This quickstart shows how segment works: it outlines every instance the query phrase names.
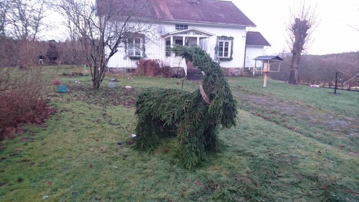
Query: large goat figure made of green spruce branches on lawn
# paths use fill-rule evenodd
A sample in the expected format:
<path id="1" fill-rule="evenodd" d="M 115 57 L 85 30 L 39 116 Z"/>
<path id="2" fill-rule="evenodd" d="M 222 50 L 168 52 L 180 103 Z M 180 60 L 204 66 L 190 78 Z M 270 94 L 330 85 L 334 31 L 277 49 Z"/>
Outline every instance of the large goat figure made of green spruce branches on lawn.
<path id="1" fill-rule="evenodd" d="M 194 92 L 164 88 L 144 90 L 136 102 L 135 146 L 151 151 L 159 137 L 177 136 L 176 155 L 184 167 L 191 169 L 206 159 L 205 150 L 220 150 L 218 126 L 236 125 L 236 101 L 223 69 L 200 47 L 175 46 L 172 51 L 204 72 L 202 86 L 211 104 L 205 102 L 199 88 Z"/>

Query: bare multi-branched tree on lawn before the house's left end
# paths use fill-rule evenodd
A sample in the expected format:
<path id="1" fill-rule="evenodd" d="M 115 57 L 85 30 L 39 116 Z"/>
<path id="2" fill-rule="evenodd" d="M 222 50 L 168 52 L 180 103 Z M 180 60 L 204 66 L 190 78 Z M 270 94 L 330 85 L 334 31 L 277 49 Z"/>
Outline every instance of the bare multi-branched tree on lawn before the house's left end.
<path id="1" fill-rule="evenodd" d="M 109 59 L 126 43 L 133 43 L 130 38 L 141 36 L 145 41 L 153 35 L 151 24 L 134 18 L 148 8 L 144 1 L 102 0 L 93 4 L 91 0 L 62 0 L 57 7 L 70 37 L 81 43 L 82 55 L 91 64 L 93 89 L 101 85 Z"/>

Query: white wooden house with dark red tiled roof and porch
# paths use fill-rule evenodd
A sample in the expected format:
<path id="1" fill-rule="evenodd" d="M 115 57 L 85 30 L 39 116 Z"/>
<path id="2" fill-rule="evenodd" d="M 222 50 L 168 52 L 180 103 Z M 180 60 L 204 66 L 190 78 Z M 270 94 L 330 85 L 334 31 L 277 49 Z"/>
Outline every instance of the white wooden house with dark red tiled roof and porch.
<path id="1" fill-rule="evenodd" d="M 121 7 L 118 9 L 124 16 L 141 7 L 131 6 L 133 0 L 114 1 L 121 2 L 117 6 Z M 214 60 L 221 62 L 221 66 L 228 72 L 246 65 L 246 29 L 255 27 L 255 24 L 232 2 L 137 0 L 136 4 L 146 5 L 145 10 L 133 15 L 131 21 L 151 23 L 156 29 L 155 37 L 151 41 L 143 37 L 130 39 L 125 48 L 119 48 L 110 58 L 110 71 L 135 69 L 136 62 L 141 58 L 159 59 L 163 65 L 183 67 L 186 71 L 190 64 L 168 51 L 174 44 L 201 46 Z M 249 58 L 263 55 L 263 45 L 262 52 L 260 48 L 250 46 L 247 46 Z"/>

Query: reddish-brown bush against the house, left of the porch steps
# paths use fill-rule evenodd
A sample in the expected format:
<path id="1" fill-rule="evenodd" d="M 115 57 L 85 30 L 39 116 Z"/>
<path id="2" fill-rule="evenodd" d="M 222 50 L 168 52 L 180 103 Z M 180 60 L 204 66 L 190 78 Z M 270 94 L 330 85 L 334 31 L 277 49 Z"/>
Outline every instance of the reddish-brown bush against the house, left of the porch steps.
<path id="1" fill-rule="evenodd" d="M 158 59 L 140 59 L 136 62 L 136 76 L 165 76 L 170 75 L 169 67 L 161 67 Z"/>

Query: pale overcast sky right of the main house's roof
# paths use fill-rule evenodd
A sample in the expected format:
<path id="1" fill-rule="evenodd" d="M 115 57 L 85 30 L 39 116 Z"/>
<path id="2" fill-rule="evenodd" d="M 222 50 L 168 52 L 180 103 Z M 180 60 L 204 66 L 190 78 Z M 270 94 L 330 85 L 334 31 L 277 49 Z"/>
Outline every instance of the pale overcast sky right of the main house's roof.
<path id="1" fill-rule="evenodd" d="M 287 48 L 284 22 L 289 8 L 298 0 L 231 0 L 257 25 L 250 31 L 259 31 L 272 45 L 266 54 L 275 54 Z M 314 41 L 308 54 L 329 54 L 359 51 L 358 0 L 307 0 L 316 6 L 320 25 L 313 34 Z"/>

